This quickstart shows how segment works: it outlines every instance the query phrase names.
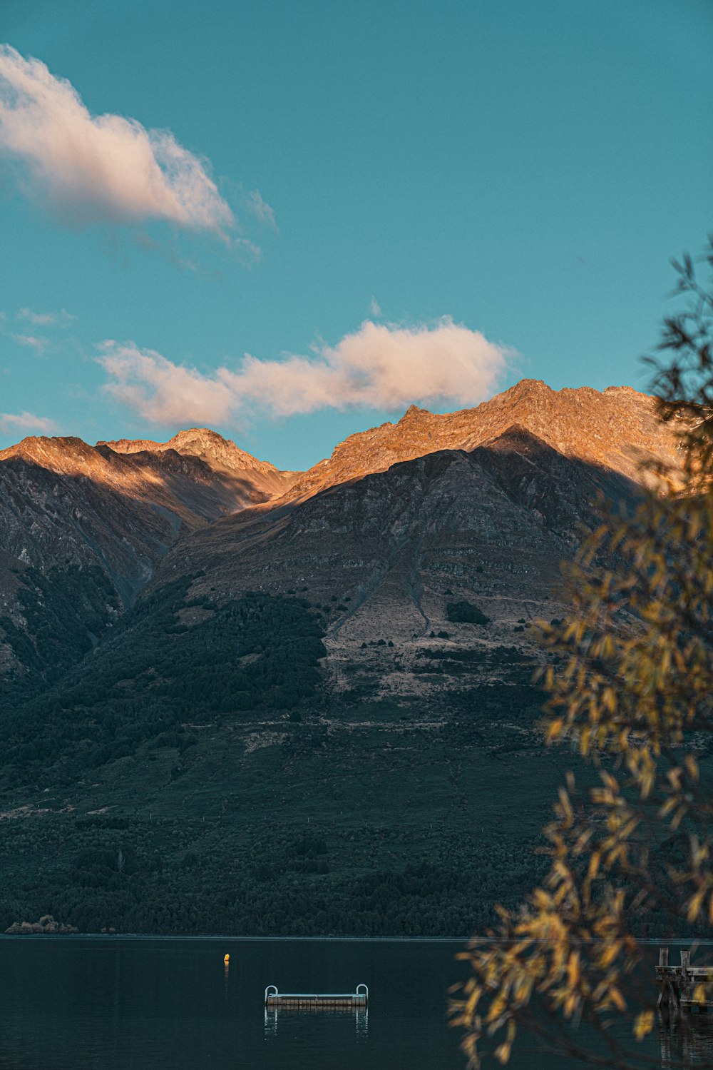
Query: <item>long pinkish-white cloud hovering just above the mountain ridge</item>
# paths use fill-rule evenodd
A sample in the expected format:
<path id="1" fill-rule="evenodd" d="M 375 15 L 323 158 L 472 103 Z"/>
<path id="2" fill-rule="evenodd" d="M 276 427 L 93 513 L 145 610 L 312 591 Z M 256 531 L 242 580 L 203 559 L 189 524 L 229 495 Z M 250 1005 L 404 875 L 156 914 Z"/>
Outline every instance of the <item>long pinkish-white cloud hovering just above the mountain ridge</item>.
<path id="1" fill-rule="evenodd" d="M 220 424 L 262 409 L 291 416 L 320 409 L 468 406 L 489 397 L 509 351 L 449 318 L 403 327 L 366 321 L 312 356 L 243 357 L 236 370 L 204 374 L 133 342 L 106 341 L 99 363 L 106 389 L 156 424 Z"/>

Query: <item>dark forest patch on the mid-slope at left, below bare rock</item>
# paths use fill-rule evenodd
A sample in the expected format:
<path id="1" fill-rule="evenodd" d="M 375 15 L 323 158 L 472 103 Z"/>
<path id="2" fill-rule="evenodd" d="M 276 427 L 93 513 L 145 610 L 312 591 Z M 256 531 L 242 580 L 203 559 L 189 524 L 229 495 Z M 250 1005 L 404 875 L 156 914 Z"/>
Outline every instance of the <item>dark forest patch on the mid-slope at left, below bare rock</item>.
<path id="1" fill-rule="evenodd" d="M 304 601 L 248 593 L 214 606 L 187 598 L 190 582 L 142 599 L 56 686 L 6 687 L 5 782 L 68 783 L 144 740 L 189 744 L 182 725 L 196 718 L 289 710 L 314 694 L 325 648 Z"/>

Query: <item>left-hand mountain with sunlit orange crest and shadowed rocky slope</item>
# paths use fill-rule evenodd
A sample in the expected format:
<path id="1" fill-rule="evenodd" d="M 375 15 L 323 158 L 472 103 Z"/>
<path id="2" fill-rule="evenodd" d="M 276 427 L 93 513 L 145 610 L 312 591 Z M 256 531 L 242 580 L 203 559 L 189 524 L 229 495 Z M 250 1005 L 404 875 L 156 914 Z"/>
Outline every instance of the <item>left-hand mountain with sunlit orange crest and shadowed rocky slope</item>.
<path id="1" fill-rule="evenodd" d="M 29 438 L 0 452 L 0 672 L 86 653 L 180 533 L 289 485 L 214 432 L 128 445 Z M 76 643 L 63 648 L 66 628 Z M 41 635 L 34 658 L 22 636 Z"/>

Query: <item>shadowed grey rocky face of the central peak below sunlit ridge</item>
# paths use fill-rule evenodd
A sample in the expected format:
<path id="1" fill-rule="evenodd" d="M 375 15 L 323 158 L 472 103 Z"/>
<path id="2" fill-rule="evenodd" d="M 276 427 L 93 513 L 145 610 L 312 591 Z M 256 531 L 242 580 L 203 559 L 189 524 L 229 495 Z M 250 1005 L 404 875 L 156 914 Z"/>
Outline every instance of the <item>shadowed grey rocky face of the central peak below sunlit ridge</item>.
<path id="1" fill-rule="evenodd" d="M 483 667 L 499 647 L 527 647 L 521 621 L 549 610 L 560 562 L 596 522 L 592 500 L 637 490 L 510 427 L 469 453 L 428 454 L 301 504 L 223 518 L 182 539 L 150 590 L 189 574 L 191 596 L 216 605 L 247 591 L 296 594 L 323 621 L 338 691 L 422 693 L 419 662 L 434 645 L 444 670 L 464 645 Z M 458 666 L 454 676 L 449 686 L 461 686 Z"/>

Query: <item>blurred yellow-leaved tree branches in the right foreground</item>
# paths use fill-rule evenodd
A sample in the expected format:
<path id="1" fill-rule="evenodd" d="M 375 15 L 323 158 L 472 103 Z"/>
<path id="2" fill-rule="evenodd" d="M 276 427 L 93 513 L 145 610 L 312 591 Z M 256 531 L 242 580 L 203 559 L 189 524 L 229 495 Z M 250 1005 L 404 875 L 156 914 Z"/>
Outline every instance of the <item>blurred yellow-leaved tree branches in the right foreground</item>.
<path id="1" fill-rule="evenodd" d="M 713 241 L 704 259 L 713 271 Z M 607 518 L 569 570 L 572 612 L 543 628 L 557 655 L 545 677 L 549 739 L 614 762 L 586 795 L 573 778 L 560 790 L 546 880 L 470 945 L 455 1011 L 474 1066 L 483 1054 L 507 1063 L 518 1027 L 584 1060 L 648 1061 L 610 1031 L 617 1015 L 636 1040 L 653 1028 L 653 979 L 642 993 L 634 983 L 635 933 L 648 915 L 668 919 L 662 937 L 713 924 L 713 802 L 701 777 L 713 730 L 713 285 L 699 284 L 689 258 L 676 268 L 688 302 L 665 321 L 654 389 L 681 431 L 683 482 L 660 472 L 632 516 Z M 599 1034 L 596 1054 L 563 1028 L 580 1022 Z"/>

